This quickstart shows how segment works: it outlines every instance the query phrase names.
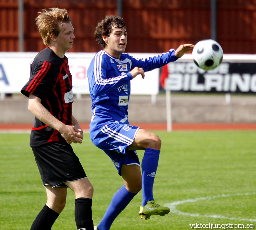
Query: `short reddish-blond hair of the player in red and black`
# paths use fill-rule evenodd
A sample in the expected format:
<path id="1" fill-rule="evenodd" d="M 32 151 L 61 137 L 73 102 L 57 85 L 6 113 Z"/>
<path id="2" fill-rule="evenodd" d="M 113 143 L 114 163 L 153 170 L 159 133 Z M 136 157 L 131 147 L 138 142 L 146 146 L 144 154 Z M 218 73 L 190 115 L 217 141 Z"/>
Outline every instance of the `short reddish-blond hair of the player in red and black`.
<path id="1" fill-rule="evenodd" d="M 42 9 L 42 12 L 38 13 L 39 15 L 35 18 L 35 24 L 46 46 L 50 45 L 51 34 L 57 37 L 60 33 L 61 25 L 72 22 L 66 9 Z"/>

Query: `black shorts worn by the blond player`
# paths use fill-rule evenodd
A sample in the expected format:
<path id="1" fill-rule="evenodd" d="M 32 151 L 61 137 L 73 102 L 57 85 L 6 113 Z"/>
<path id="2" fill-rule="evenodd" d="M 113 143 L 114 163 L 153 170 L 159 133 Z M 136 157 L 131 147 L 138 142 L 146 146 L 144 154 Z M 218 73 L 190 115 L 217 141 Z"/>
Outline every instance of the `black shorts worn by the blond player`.
<path id="1" fill-rule="evenodd" d="M 68 187 L 65 182 L 86 177 L 71 145 L 53 142 L 32 147 L 32 150 L 44 185 L 50 185 L 52 188 Z"/>

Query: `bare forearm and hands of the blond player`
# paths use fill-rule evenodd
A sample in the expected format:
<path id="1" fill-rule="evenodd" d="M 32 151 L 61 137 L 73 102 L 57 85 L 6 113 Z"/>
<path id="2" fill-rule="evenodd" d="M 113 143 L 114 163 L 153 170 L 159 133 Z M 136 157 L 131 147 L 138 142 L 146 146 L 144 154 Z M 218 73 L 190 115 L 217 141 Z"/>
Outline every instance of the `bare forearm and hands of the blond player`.
<path id="1" fill-rule="evenodd" d="M 32 94 L 29 95 L 29 111 L 32 112 L 39 120 L 59 131 L 62 137 L 70 144 L 82 143 L 83 135 L 80 134 L 82 129 L 75 126 L 68 126 L 55 118 L 46 108 L 41 104 L 41 99 Z"/>

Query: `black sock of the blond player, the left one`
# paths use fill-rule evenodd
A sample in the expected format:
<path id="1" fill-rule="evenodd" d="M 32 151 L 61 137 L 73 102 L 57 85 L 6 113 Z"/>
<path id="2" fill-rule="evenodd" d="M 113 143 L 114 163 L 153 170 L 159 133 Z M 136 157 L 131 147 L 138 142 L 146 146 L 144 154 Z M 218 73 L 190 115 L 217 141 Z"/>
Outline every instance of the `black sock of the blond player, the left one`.
<path id="1" fill-rule="evenodd" d="M 35 218 L 30 230 L 51 230 L 53 223 L 60 214 L 44 206 Z"/>

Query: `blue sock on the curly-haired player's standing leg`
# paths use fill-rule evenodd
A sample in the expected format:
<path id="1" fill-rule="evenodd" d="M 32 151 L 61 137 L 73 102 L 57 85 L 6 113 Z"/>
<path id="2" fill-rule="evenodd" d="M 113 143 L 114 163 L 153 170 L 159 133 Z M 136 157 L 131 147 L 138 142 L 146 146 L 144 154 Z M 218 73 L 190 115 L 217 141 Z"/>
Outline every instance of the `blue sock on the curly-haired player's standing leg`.
<path id="1" fill-rule="evenodd" d="M 106 210 L 105 215 L 97 225 L 98 230 L 109 230 L 114 219 L 124 210 L 136 194 L 137 193 L 127 191 L 123 185 L 113 196 L 112 202 Z"/>

